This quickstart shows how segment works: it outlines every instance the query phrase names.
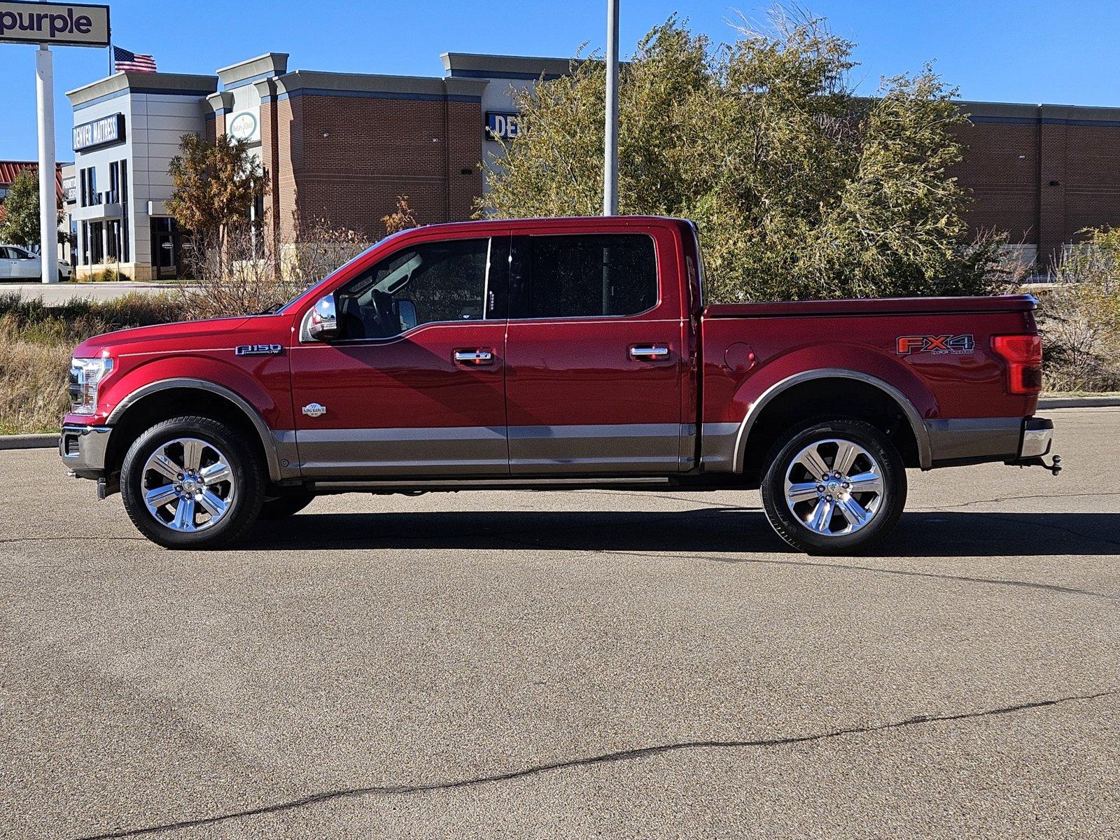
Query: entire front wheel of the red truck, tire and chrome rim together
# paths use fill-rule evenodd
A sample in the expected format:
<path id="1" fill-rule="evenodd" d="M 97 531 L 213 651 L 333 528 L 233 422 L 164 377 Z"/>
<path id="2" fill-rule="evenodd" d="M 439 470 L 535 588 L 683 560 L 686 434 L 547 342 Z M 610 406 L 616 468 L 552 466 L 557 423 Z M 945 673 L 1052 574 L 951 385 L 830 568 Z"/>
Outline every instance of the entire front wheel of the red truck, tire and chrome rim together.
<path id="1" fill-rule="evenodd" d="M 217 549 L 252 526 L 264 474 L 235 429 L 207 417 L 177 417 L 143 432 L 121 467 L 132 524 L 170 549 Z"/>

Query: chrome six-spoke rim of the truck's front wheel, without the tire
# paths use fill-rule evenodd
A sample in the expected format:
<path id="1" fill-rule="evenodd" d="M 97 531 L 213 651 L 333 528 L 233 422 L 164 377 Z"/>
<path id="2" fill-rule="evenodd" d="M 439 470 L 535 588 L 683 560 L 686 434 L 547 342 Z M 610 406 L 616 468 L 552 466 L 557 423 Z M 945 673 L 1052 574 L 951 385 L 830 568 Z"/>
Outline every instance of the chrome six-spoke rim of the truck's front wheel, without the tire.
<path id="1" fill-rule="evenodd" d="M 236 487 L 230 461 L 213 444 L 176 438 L 152 452 L 140 479 L 144 505 L 172 531 L 204 531 L 233 505 Z"/>

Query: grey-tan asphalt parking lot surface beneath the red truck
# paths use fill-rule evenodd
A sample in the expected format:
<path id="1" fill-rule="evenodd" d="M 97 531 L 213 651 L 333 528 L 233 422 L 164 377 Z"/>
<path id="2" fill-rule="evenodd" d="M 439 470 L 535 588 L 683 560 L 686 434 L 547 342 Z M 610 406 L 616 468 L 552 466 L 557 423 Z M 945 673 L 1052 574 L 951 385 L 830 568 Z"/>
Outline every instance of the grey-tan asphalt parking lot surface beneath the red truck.
<path id="1" fill-rule="evenodd" d="M 871 557 L 756 493 L 340 496 L 142 540 L 0 451 L 0 836 L 1117 837 L 1120 409 L 911 474 Z"/>

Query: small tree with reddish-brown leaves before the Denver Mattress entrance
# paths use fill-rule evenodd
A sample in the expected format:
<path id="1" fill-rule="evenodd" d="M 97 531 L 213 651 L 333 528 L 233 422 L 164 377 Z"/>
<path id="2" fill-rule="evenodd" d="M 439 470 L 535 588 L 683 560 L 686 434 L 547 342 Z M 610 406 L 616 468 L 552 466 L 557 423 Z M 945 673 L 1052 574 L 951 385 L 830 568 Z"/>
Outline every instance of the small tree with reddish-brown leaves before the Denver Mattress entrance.
<path id="1" fill-rule="evenodd" d="M 264 170 L 248 143 L 228 134 L 214 142 L 184 134 L 167 171 L 174 187 L 168 212 L 181 227 L 216 236 L 220 243 L 232 226 L 249 223 L 253 202 L 267 188 Z"/>

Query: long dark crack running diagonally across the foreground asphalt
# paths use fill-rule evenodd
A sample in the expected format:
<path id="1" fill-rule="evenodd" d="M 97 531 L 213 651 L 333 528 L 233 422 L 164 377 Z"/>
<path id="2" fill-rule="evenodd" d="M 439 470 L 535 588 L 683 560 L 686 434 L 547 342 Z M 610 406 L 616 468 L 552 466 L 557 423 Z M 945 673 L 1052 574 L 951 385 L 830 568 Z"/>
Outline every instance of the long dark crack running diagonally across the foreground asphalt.
<path id="1" fill-rule="evenodd" d="M 102 833 L 102 834 L 87 834 L 82 837 L 80 840 L 112 840 L 113 838 L 140 837 L 142 834 L 155 834 L 168 831 L 179 831 L 183 829 L 198 828 L 200 825 L 213 825 L 214 823 L 226 822 L 230 820 L 237 820 L 246 816 L 259 816 L 262 814 L 277 813 L 281 811 L 292 811 L 296 809 L 307 808 L 308 805 L 316 805 L 321 802 L 329 802 L 333 800 L 356 799 L 360 796 L 373 796 L 373 795 L 377 796 L 412 795 L 412 794 L 431 793 L 433 791 L 455 791 L 455 790 L 463 790 L 466 787 L 478 787 L 482 785 L 495 784 L 498 782 L 512 782 L 520 778 L 535 776 L 542 773 L 552 773 L 557 771 L 566 771 L 578 767 L 588 767 L 599 764 L 612 764 L 615 762 L 632 762 L 641 758 L 650 758 L 653 756 L 665 755 L 668 753 L 678 753 L 683 750 L 768 748 L 768 747 L 792 746 L 797 744 L 811 744 L 813 741 L 825 740 L 829 738 L 840 738 L 848 735 L 865 735 L 865 734 L 880 732 L 888 729 L 904 729 L 914 726 L 925 726 L 927 724 L 952 722 L 956 720 L 973 720 L 978 718 L 987 718 L 998 715 L 1012 715 L 1015 712 L 1027 711 L 1029 709 L 1043 709 L 1047 707 L 1058 706 L 1061 703 L 1075 702 L 1079 700 L 1080 701 L 1099 700 L 1101 698 L 1116 697 L 1118 694 L 1120 694 L 1120 688 L 1109 689 L 1105 691 L 1096 691 L 1090 694 L 1072 694 L 1067 697 L 1051 698 L 1048 700 L 1032 700 L 996 709 L 981 709 L 979 711 L 965 711 L 965 712 L 954 712 L 954 713 L 943 713 L 943 715 L 916 715 L 914 717 L 903 718 L 902 720 L 893 720 L 886 724 L 875 724 L 871 726 L 860 726 L 860 727 L 844 727 L 840 729 L 828 729 L 820 732 L 810 732 L 808 735 L 791 735 L 782 738 L 759 738 L 756 740 L 692 740 L 692 741 L 674 741 L 670 744 L 655 744 L 648 747 L 634 747 L 632 749 L 623 749 L 613 753 L 603 753 L 594 756 L 568 758 L 564 760 L 549 762 L 545 764 L 534 764 L 532 766 L 523 767 L 521 769 L 508 771 L 506 773 L 494 773 L 485 776 L 474 776 L 472 778 L 447 780 L 442 782 L 428 782 L 424 784 L 413 784 L 413 785 L 374 785 L 368 787 L 348 787 L 336 791 L 323 791 L 320 793 L 312 793 L 307 796 L 300 796 L 299 799 L 289 800 L 287 802 L 277 802 L 271 805 L 261 805 L 260 808 L 245 809 L 243 811 L 230 811 L 223 814 L 199 816 L 190 820 L 180 820 L 178 822 L 168 822 L 158 825 L 146 825 L 136 829 L 118 829 L 115 831 L 110 831 L 108 833 Z"/>

